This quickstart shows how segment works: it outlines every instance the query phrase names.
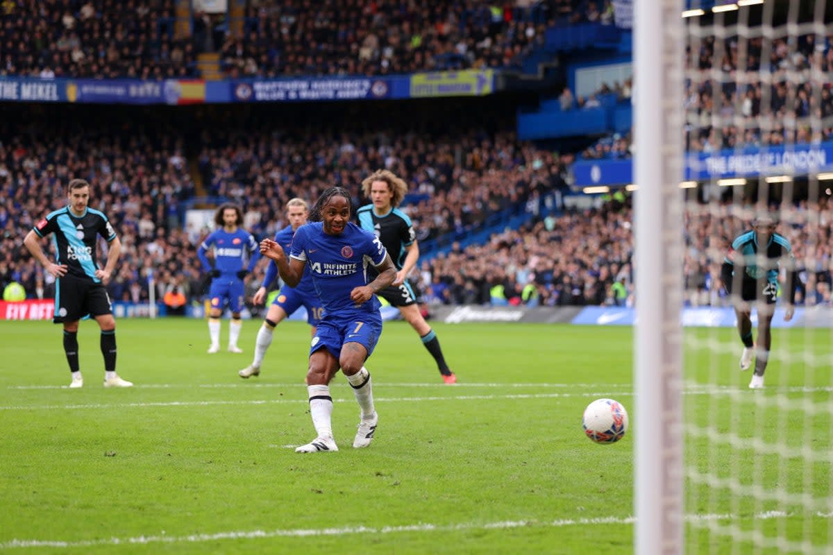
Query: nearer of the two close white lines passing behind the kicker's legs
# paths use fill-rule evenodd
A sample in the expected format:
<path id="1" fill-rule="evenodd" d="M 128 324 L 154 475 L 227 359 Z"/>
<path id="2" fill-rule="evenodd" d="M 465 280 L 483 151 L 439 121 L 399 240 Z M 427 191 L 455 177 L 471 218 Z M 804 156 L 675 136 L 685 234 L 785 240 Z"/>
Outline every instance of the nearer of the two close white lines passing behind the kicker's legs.
<path id="1" fill-rule="evenodd" d="M 779 393 L 830 393 L 833 387 L 808 388 L 803 386 L 777 389 L 771 391 Z M 686 395 L 718 395 L 718 394 L 740 394 L 748 392 L 746 388 L 729 387 L 696 387 L 684 392 Z M 616 398 L 632 397 L 633 391 L 582 391 L 577 393 L 536 393 L 536 394 L 503 394 L 503 395 L 443 395 L 429 397 L 377 397 L 377 403 L 401 403 L 420 401 L 483 401 L 495 399 L 558 399 L 558 398 Z M 353 399 L 333 399 L 333 403 L 352 403 Z M 307 399 L 242 399 L 237 401 L 157 401 L 147 403 L 91 403 L 91 404 L 42 404 L 42 405 L 0 405 L 2 410 L 74 410 L 74 409 L 131 409 L 147 407 L 207 407 L 212 405 L 246 405 L 246 404 L 295 404 L 307 403 Z"/>

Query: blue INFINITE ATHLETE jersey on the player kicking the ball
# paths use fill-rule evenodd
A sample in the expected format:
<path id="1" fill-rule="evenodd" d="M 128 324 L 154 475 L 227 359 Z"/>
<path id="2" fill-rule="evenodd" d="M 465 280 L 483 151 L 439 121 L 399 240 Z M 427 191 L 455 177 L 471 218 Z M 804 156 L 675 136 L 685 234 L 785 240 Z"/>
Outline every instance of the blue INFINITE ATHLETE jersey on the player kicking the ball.
<path id="1" fill-rule="evenodd" d="M 320 221 L 302 225 L 295 232 L 289 255 L 307 264 L 325 320 L 337 319 L 343 312 L 379 310 L 376 295 L 362 305 L 350 298 L 354 288 L 369 283 L 368 265 L 381 265 L 387 256 L 382 242 L 369 231 L 348 222 L 341 235 L 327 235 Z"/>

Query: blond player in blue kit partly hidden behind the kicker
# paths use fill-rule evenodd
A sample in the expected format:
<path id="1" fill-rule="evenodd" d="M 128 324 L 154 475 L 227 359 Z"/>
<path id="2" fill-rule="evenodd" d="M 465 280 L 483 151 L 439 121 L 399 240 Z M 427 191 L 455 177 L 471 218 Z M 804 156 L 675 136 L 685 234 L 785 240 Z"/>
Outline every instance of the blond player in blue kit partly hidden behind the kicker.
<path id="1" fill-rule="evenodd" d="M 309 210 L 307 209 L 306 201 L 294 198 L 287 202 L 287 220 L 289 221 L 289 225 L 275 234 L 275 242 L 281 245 L 285 252 L 289 252 L 290 246 L 292 245 L 292 235 L 295 235 L 295 231 L 307 223 L 308 217 Z M 257 293 L 255 293 L 252 299 L 255 305 L 260 305 L 266 299 L 269 285 L 272 285 L 272 281 L 276 277 L 277 265 L 272 260 L 267 266 L 266 276 L 263 278 L 263 285 L 257 290 Z M 312 285 L 312 280 L 309 277 L 308 268 L 304 269 L 301 283 L 297 287 L 283 285 L 275 300 L 272 301 L 272 305 L 267 311 L 266 319 L 263 320 L 263 325 L 257 332 L 252 364 L 249 364 L 237 373 L 241 378 L 260 375 L 263 356 L 266 354 L 267 349 L 269 349 L 269 345 L 272 344 L 272 332 L 275 330 L 275 326 L 280 324 L 287 316 L 292 315 L 301 306 L 307 309 L 307 322 L 312 326 L 312 335 L 314 336 L 318 320 L 321 320 L 323 309 L 321 301 L 318 300 L 315 286 Z"/>

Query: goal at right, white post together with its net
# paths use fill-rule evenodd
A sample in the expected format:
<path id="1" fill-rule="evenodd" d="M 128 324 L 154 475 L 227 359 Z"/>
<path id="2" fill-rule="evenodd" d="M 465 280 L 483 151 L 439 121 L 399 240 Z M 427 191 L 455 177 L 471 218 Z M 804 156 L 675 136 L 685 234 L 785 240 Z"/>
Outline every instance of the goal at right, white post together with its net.
<path id="1" fill-rule="evenodd" d="M 831 22 L 636 2 L 637 553 L 833 553 Z"/>

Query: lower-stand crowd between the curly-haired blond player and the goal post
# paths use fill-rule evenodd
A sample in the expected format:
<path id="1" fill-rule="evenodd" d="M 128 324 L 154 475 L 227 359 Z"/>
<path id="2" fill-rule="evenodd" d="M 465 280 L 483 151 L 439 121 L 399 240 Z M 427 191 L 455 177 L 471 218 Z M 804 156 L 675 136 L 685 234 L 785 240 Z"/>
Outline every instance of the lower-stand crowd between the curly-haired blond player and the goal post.
<path id="1" fill-rule="evenodd" d="M 423 261 L 416 283 L 429 305 L 625 305 L 633 289 L 631 216 L 626 199 L 533 218 L 484 245 L 455 245 Z M 625 298 L 614 295 L 617 282 Z"/>

